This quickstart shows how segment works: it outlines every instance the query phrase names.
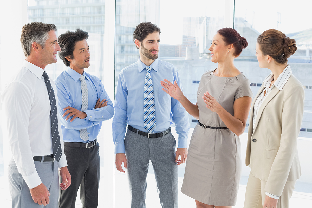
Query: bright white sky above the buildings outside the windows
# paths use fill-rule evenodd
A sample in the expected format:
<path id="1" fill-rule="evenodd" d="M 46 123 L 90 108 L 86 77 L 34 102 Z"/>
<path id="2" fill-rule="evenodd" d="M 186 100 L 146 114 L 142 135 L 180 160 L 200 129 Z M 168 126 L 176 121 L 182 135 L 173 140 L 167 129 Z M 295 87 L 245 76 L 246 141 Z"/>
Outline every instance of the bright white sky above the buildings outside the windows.
<path id="1" fill-rule="evenodd" d="M 159 1 L 161 43 L 176 45 L 182 44 L 183 17 L 222 17 L 230 0 Z M 28 3 L 35 5 L 33 0 Z M 310 0 L 235 0 L 235 17 L 243 17 L 259 32 L 275 28 L 287 34 L 312 27 L 311 8 Z"/>

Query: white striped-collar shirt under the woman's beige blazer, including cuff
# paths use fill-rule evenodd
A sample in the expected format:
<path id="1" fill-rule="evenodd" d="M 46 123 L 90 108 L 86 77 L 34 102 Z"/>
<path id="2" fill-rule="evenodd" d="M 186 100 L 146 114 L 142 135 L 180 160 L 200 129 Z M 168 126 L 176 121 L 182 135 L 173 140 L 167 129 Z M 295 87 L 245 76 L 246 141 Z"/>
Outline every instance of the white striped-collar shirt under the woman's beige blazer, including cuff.
<path id="1" fill-rule="evenodd" d="M 287 82 L 288 78 L 292 75 L 292 71 L 290 69 L 290 66 L 287 65 L 286 68 L 282 71 L 282 73 L 280 74 L 280 76 L 275 80 L 274 84 L 270 87 L 272 80 L 274 79 L 274 75 L 273 73 L 271 73 L 269 76 L 267 76 L 264 81 L 263 81 L 263 85 L 264 85 L 264 89 L 262 90 L 262 92 L 260 93 L 260 95 L 257 97 L 256 101 L 255 101 L 255 105 L 254 105 L 254 113 L 253 113 L 253 128 L 255 128 L 255 124 L 256 124 L 256 119 L 257 119 L 257 115 L 259 113 L 259 109 L 261 107 L 261 104 L 263 103 L 263 101 L 266 99 L 266 97 L 268 96 L 268 94 L 270 94 L 270 92 L 272 91 L 272 89 L 274 87 L 276 87 L 279 90 L 282 90 L 283 87 L 285 86 L 285 83 Z M 266 93 L 265 93 L 266 92 Z M 266 192 L 267 196 L 270 196 L 274 199 L 279 199 L 280 196 L 275 196 L 272 195 L 268 192 Z"/>

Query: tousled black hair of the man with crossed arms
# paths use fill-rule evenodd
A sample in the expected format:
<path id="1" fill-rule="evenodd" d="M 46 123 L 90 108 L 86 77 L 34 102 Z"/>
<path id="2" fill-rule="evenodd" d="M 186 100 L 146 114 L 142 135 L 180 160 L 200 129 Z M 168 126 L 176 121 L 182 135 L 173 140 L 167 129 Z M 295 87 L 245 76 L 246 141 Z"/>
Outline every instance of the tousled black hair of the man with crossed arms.
<path id="1" fill-rule="evenodd" d="M 66 56 L 71 56 L 71 59 L 74 59 L 73 52 L 76 46 L 76 42 L 82 41 L 84 39 L 87 40 L 88 37 L 88 32 L 83 31 L 79 28 L 75 32 L 67 31 L 59 36 L 58 43 L 61 47 L 61 51 L 59 51 L 59 56 L 66 66 L 69 66 L 71 64 L 71 62 L 65 58 Z"/>

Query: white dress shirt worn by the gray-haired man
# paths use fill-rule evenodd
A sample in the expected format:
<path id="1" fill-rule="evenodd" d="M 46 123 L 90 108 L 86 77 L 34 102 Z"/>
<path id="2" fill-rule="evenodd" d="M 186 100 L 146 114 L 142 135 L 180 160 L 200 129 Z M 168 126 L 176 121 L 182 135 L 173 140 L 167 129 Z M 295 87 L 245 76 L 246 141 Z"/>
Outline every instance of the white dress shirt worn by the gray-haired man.
<path id="1" fill-rule="evenodd" d="M 7 116 L 8 140 L 13 159 L 29 188 L 41 184 L 32 157 L 53 154 L 50 99 L 42 76 L 43 71 L 24 60 L 22 69 L 8 81 L 2 92 L 3 111 Z M 52 79 L 50 82 L 58 103 L 55 84 Z M 62 148 L 58 167 L 61 168 L 67 166 L 67 162 L 60 118 L 58 129 Z"/>

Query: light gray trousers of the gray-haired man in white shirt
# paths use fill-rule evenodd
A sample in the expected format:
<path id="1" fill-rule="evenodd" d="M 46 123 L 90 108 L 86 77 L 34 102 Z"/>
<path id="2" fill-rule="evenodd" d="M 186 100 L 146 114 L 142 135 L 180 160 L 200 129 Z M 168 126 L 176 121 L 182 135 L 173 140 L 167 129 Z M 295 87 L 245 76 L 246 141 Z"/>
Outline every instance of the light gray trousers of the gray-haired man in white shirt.
<path id="1" fill-rule="evenodd" d="M 22 175 L 17 171 L 17 166 L 12 158 L 7 168 L 9 189 L 12 196 L 12 208 L 57 208 L 60 187 L 57 162 L 41 163 L 34 161 L 34 163 L 41 182 L 51 194 L 49 196 L 50 203 L 43 206 L 33 201 L 29 188 Z"/>

